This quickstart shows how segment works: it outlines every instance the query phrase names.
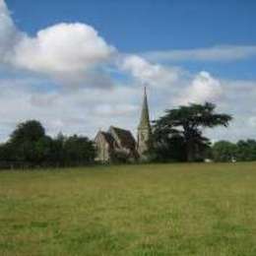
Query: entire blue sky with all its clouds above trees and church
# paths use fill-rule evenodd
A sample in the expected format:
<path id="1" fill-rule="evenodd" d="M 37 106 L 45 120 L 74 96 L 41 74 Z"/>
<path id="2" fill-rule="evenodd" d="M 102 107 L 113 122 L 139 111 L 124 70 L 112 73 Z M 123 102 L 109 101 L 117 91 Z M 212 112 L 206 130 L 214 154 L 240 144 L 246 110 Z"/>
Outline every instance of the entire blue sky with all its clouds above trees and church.
<path id="1" fill-rule="evenodd" d="M 233 116 L 213 140 L 256 138 L 253 0 L 0 0 L 0 141 L 19 122 L 94 138 L 136 135 L 143 88 L 151 119 L 180 104 Z"/>

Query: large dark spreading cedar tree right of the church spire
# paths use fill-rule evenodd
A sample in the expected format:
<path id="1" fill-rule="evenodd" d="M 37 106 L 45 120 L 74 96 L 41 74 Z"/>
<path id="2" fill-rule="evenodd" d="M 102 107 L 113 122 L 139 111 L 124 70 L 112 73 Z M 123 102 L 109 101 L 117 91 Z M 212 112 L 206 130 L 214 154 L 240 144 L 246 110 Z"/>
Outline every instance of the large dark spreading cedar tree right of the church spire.
<path id="1" fill-rule="evenodd" d="M 228 114 L 216 113 L 215 108 L 215 104 L 206 102 L 166 110 L 165 115 L 155 121 L 157 143 L 164 143 L 166 138 L 181 137 L 185 145 L 186 160 L 202 158 L 202 153 L 210 144 L 203 136 L 203 129 L 219 125 L 226 127 L 232 119 Z"/>

